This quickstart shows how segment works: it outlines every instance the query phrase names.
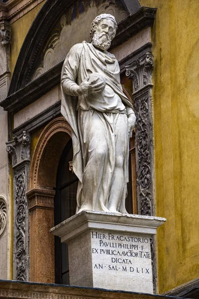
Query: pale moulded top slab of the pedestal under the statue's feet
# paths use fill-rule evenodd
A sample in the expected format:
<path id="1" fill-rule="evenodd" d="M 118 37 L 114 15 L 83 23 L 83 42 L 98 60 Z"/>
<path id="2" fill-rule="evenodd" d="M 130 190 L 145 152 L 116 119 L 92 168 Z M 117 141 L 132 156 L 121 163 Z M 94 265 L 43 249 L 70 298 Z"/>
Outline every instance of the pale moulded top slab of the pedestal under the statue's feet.
<path id="1" fill-rule="evenodd" d="M 60 237 L 61 242 L 71 240 L 86 230 L 97 227 L 106 231 L 155 235 L 157 228 L 165 221 L 165 218 L 155 216 L 83 210 L 57 224 L 50 232 Z"/>

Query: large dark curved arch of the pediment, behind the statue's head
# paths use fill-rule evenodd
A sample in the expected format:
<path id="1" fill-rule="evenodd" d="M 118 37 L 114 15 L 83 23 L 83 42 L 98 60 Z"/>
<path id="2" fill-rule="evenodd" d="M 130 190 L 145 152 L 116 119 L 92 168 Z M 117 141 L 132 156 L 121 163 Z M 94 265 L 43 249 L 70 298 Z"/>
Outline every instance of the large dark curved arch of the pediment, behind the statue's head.
<path id="1" fill-rule="evenodd" d="M 31 82 L 38 59 L 49 38 L 48 32 L 52 30 L 63 11 L 69 9 L 74 2 L 75 0 L 46 0 L 41 7 L 20 49 L 10 82 L 8 97 Z M 138 0 L 119 0 L 119 2 L 127 14 L 132 14 L 141 7 Z M 60 66 L 58 69 L 61 72 Z"/>

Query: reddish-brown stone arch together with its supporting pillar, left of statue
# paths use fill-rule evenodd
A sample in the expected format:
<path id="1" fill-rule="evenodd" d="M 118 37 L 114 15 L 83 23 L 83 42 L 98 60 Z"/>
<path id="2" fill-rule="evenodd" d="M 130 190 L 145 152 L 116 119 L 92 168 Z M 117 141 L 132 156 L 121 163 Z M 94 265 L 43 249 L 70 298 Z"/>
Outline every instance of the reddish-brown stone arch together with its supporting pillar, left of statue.
<path id="1" fill-rule="evenodd" d="M 63 117 L 52 120 L 42 131 L 34 149 L 26 193 L 30 227 L 30 281 L 55 282 L 54 196 L 57 167 L 72 129 Z M 46 259 L 48 252 L 48 259 Z"/>

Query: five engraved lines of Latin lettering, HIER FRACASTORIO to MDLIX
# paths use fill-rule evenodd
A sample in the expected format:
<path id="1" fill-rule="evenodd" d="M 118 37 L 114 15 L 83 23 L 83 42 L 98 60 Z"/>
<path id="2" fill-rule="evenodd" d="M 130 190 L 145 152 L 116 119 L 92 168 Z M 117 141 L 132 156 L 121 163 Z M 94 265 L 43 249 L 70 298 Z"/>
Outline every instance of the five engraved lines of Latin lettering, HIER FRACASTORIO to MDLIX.
<path id="1" fill-rule="evenodd" d="M 150 238 L 91 231 L 93 271 L 151 278 Z M 125 274 L 124 274 L 125 275 Z"/>

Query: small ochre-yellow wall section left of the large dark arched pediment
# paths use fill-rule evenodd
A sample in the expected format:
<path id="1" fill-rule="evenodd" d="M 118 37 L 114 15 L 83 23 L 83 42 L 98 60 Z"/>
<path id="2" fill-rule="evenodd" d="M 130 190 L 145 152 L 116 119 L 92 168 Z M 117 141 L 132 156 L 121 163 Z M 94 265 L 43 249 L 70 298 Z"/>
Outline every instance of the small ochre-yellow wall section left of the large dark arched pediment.
<path id="1" fill-rule="evenodd" d="M 16 60 L 23 44 L 23 41 L 28 33 L 28 30 L 35 19 L 35 16 L 43 6 L 44 1 L 35 6 L 29 12 L 24 14 L 11 25 L 11 49 L 10 49 L 10 70 L 13 73 Z"/>

